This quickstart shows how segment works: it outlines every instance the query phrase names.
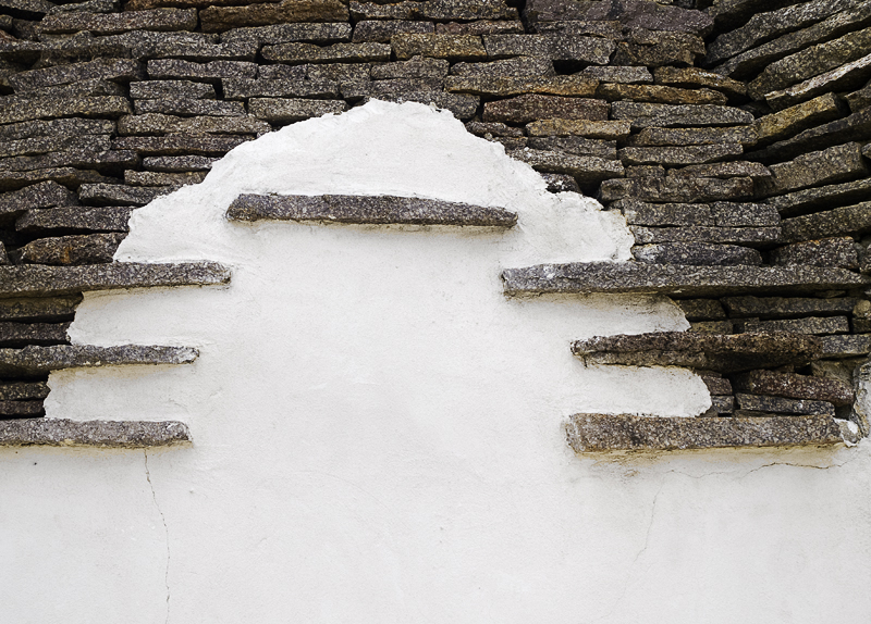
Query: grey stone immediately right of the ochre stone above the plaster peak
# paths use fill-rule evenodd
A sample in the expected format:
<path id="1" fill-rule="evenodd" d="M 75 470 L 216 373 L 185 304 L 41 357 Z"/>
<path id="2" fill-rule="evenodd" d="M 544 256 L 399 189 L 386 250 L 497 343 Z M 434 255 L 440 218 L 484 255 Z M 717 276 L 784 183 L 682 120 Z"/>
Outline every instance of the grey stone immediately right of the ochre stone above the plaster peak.
<path id="1" fill-rule="evenodd" d="M 615 43 L 601 37 L 564 35 L 484 35 L 483 47 L 490 59 L 541 57 L 552 61 L 578 61 L 606 65 Z"/>

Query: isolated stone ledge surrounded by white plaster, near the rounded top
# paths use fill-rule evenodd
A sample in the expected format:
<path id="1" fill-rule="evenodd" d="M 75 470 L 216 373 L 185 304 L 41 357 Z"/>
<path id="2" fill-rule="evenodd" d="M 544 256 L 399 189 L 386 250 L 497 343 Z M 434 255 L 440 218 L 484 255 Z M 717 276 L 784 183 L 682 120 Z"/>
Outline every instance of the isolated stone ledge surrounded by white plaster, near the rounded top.
<path id="1" fill-rule="evenodd" d="M 517 215 L 502 208 L 393 196 L 241 195 L 226 211 L 234 221 L 320 221 L 359 225 L 511 227 Z"/>

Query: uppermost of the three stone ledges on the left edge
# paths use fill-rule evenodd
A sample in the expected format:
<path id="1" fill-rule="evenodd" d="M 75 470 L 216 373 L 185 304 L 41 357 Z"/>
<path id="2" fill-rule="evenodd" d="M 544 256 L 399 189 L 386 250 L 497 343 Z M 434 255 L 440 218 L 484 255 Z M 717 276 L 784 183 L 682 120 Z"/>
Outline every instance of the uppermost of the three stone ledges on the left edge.
<path id="1" fill-rule="evenodd" d="M 0 266 L 0 299 L 52 297 L 85 290 L 159 286 L 207 286 L 230 282 L 230 270 L 216 262 L 147 264 L 112 262 L 90 266 Z"/>

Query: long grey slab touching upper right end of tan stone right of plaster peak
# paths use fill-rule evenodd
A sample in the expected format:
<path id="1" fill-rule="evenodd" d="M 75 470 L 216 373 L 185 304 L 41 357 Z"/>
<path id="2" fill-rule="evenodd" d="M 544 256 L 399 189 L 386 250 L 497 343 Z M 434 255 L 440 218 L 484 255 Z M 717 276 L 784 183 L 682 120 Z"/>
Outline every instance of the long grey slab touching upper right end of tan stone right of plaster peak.
<path id="1" fill-rule="evenodd" d="M 629 120 L 633 129 L 646 127 L 737 126 L 753 123 L 753 115 L 740 109 L 714 104 L 649 104 L 614 102 L 611 115 L 615 120 Z"/>

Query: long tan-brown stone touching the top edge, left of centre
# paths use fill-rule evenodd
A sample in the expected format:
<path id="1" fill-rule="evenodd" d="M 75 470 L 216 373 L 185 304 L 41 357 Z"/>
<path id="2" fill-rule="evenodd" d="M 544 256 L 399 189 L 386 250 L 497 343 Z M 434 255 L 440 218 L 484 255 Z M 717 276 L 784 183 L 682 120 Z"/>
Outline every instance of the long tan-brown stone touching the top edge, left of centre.
<path id="1" fill-rule="evenodd" d="M 283 0 L 274 4 L 208 7 L 199 12 L 205 33 L 222 33 L 243 26 L 287 22 L 347 22 L 347 5 L 341 0 Z"/>

